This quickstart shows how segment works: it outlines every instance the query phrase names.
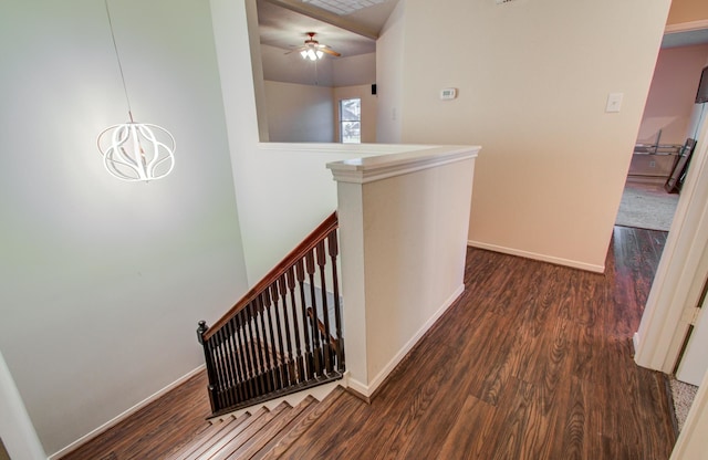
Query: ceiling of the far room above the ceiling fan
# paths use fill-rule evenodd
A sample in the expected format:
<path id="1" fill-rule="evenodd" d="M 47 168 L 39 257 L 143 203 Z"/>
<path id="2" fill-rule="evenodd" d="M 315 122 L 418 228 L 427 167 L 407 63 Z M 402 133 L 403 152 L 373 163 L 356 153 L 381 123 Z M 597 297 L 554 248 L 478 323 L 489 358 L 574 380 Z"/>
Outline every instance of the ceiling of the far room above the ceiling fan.
<path id="1" fill-rule="evenodd" d="M 340 3 L 341 8 L 356 8 L 356 10 L 346 14 L 336 14 L 332 12 L 332 8 L 324 10 L 314 7 L 312 1 L 258 0 L 261 43 L 290 51 L 304 44 L 308 32 L 315 32 L 315 40 L 341 53 L 343 58 L 374 53 L 375 36 L 381 32 L 398 2 L 398 0 L 320 1 Z M 377 3 L 377 1 L 381 2 Z M 361 30 L 369 36 L 351 30 Z"/>

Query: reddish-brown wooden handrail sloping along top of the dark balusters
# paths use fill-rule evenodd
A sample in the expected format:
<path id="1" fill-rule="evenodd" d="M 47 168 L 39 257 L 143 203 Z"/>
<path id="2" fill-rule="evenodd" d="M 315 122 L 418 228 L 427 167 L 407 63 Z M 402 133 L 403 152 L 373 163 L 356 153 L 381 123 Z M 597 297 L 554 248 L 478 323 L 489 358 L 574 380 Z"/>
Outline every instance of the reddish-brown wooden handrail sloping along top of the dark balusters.
<path id="1" fill-rule="evenodd" d="M 253 288 L 251 288 L 240 301 L 236 303 L 223 316 L 217 320 L 207 332 L 204 334 L 204 338 L 210 338 L 217 330 L 223 327 L 223 325 L 236 315 L 240 310 L 242 310 L 246 305 L 258 296 L 263 289 L 273 284 L 280 276 L 282 276 L 290 266 L 292 266 L 298 260 L 302 259 L 308 251 L 312 250 L 320 241 L 324 239 L 332 230 L 335 230 L 340 227 L 340 222 L 337 220 L 336 211 L 332 212 L 330 217 L 327 217 L 322 223 L 317 226 L 309 236 L 305 237 L 304 240 L 300 244 L 295 247 L 283 260 L 278 263 L 270 272 L 263 276 L 261 281 L 259 281 Z"/>

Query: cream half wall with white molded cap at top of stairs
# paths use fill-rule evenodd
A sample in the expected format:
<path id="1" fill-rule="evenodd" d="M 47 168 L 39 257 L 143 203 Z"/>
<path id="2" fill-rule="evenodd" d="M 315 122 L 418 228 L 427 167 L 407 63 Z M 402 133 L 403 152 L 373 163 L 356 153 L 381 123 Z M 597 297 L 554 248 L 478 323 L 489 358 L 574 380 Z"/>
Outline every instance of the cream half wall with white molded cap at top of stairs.
<path id="1" fill-rule="evenodd" d="M 348 385 L 366 397 L 465 289 L 477 151 L 327 165 L 337 180 Z"/>

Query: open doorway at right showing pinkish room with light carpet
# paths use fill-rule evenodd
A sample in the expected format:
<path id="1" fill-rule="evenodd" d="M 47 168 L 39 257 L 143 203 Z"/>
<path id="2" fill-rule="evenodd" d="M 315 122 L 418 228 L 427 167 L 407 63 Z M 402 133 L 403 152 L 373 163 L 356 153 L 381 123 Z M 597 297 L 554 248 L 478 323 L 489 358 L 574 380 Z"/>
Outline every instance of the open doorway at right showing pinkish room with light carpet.
<path id="1" fill-rule="evenodd" d="M 666 34 L 632 156 L 616 224 L 669 231 L 677 189 L 665 185 L 696 139 L 701 107 L 695 104 L 708 36 L 701 31 Z"/>

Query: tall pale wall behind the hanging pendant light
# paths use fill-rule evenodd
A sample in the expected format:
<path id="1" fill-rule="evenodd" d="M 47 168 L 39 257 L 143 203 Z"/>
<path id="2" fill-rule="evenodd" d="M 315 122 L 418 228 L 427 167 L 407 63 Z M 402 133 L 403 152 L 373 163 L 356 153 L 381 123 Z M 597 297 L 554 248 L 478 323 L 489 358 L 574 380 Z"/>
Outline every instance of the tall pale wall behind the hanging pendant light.
<path id="1" fill-rule="evenodd" d="M 95 147 L 127 119 L 104 3 L 1 9 L 0 349 L 52 453 L 199 366 L 244 264 L 208 4 L 111 2 L 135 118 L 177 139 L 147 185 Z"/>

